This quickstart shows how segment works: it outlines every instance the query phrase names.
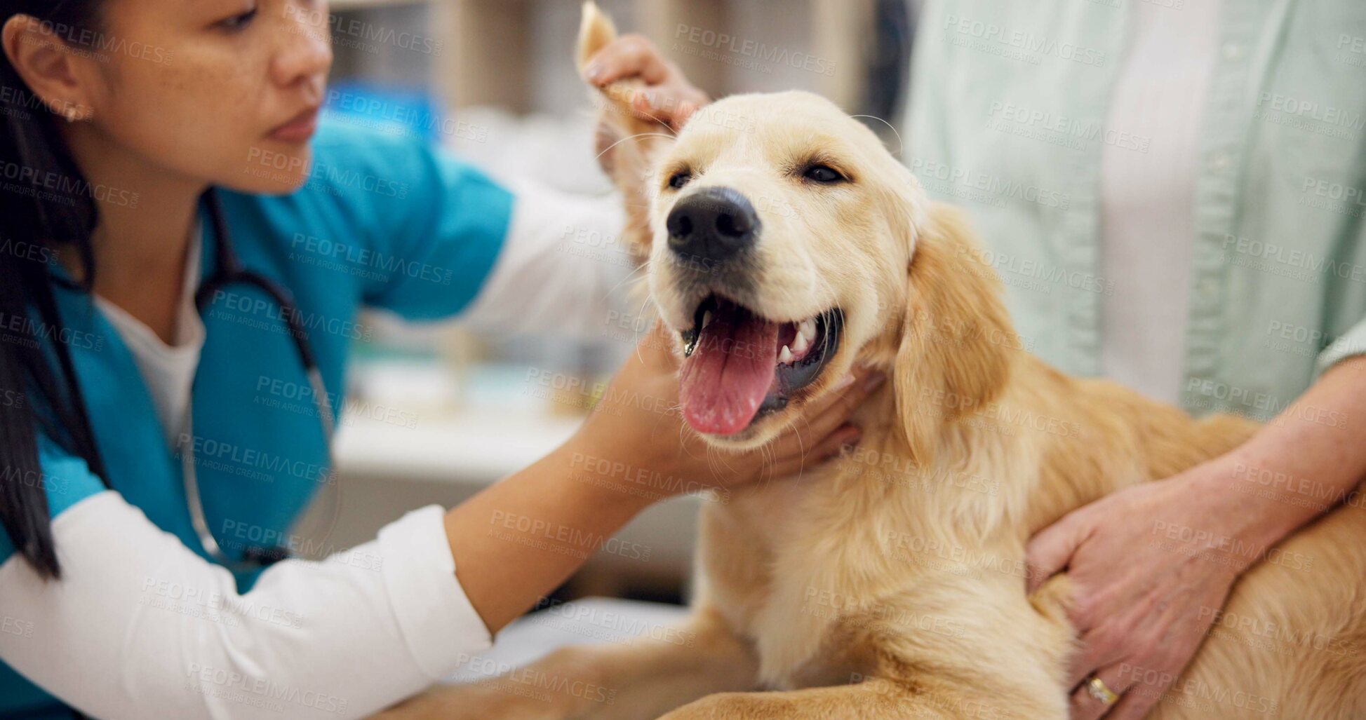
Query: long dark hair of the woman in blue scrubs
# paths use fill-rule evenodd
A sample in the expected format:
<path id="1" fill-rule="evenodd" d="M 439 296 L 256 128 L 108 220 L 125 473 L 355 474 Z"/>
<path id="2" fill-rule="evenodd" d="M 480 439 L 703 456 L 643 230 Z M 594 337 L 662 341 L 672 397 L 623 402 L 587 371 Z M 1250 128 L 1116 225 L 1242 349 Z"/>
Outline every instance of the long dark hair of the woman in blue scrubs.
<path id="1" fill-rule="evenodd" d="M 0 25 L 31 15 L 52 42 L 90 37 L 100 0 L 0 0 Z M 85 33 L 83 33 L 85 31 Z M 38 100 L 0 52 L 0 523 L 15 551 L 44 578 L 60 578 L 48 508 L 49 478 L 38 463 L 41 429 L 104 477 L 85 400 L 63 344 L 52 266 L 74 253 L 90 290 L 94 197 L 57 130 L 59 115 Z"/>

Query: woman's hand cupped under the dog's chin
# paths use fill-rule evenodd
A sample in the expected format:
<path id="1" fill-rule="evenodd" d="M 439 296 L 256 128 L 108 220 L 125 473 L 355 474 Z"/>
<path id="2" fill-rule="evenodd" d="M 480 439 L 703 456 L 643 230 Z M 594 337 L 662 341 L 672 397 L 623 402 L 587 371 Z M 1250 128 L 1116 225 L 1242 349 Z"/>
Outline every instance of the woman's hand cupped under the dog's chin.
<path id="1" fill-rule="evenodd" d="M 862 430 L 846 422 L 881 384 L 882 374 L 856 370 L 852 383 L 802 410 L 791 428 L 765 447 L 727 452 L 687 428 L 679 410 L 678 361 L 661 322 L 637 346 L 571 440 L 596 458 L 626 463 L 708 488 L 735 488 L 800 474 L 856 444 Z M 661 488 L 664 489 L 664 488 Z M 675 492 L 687 486 L 671 485 Z"/>

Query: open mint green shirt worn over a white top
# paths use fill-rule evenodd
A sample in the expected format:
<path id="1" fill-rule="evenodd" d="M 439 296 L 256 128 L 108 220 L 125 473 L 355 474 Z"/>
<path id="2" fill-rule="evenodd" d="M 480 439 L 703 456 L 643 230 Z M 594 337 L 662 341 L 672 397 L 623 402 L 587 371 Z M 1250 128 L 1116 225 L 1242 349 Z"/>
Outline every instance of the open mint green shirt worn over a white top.
<path id="1" fill-rule="evenodd" d="M 1023 344 L 1081 376 L 1101 373 L 1112 287 L 1101 152 L 1150 150 L 1105 124 L 1138 1 L 929 0 L 911 67 L 907 164 L 970 212 Z M 1220 36 L 1191 262 L 1171 268 L 1190 279 L 1180 403 L 1269 419 L 1366 352 L 1366 1 L 1223 0 Z"/>

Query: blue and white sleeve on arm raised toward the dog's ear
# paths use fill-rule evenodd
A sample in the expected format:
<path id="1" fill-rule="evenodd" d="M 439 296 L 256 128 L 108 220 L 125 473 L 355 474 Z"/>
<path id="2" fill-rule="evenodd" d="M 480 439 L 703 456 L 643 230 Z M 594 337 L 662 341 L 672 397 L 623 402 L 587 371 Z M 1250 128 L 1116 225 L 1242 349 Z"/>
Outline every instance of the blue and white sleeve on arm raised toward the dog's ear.
<path id="1" fill-rule="evenodd" d="M 362 301 L 413 321 L 459 317 L 500 333 L 604 335 L 635 269 L 619 197 L 504 187 L 449 150 L 329 127 L 313 195 L 347 210 L 335 234 L 366 238 Z M 381 178 L 367 191 L 347 178 Z M 354 228 L 351 225 L 355 225 Z M 612 316 L 612 320 L 617 320 Z"/>

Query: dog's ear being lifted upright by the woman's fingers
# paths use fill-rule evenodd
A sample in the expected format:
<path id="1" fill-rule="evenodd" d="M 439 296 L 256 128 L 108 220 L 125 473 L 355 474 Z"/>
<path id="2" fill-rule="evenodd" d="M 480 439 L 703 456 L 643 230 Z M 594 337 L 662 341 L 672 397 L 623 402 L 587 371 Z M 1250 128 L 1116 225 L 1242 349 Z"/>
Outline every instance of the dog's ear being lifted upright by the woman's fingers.
<path id="1" fill-rule="evenodd" d="M 593 55 L 616 37 L 616 26 L 611 18 L 597 4 L 583 3 L 576 51 L 579 72 L 583 72 Z M 646 255 L 650 246 L 647 187 L 656 182 L 652 175 L 653 158 L 661 148 L 673 142 L 673 130 L 668 123 L 641 119 L 631 111 L 632 102 L 643 90 L 645 82 L 639 78 L 626 78 L 605 87 L 593 87 L 593 98 L 598 109 L 598 163 L 624 195 L 627 227 L 623 235 Z"/>

